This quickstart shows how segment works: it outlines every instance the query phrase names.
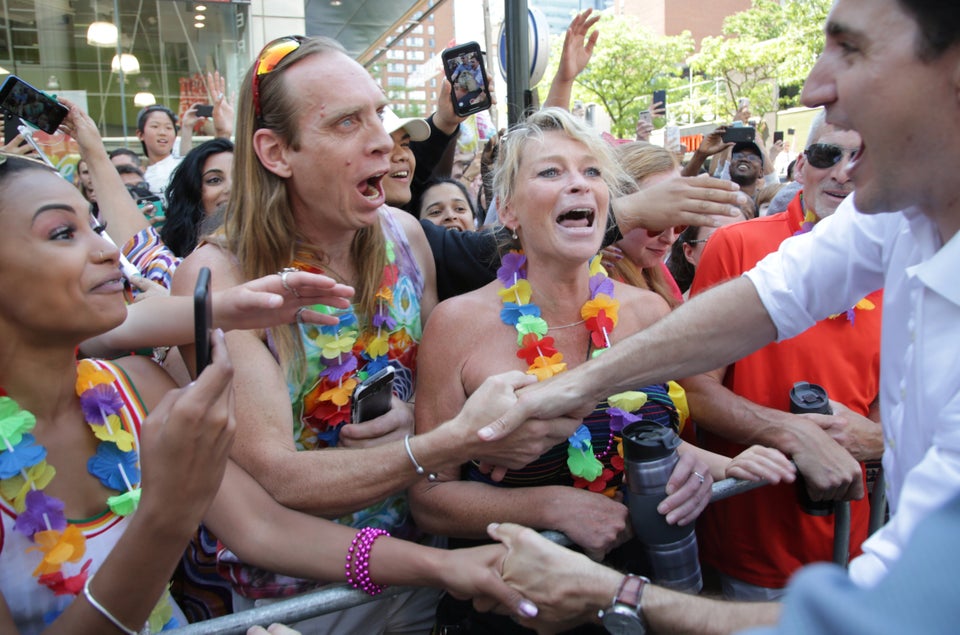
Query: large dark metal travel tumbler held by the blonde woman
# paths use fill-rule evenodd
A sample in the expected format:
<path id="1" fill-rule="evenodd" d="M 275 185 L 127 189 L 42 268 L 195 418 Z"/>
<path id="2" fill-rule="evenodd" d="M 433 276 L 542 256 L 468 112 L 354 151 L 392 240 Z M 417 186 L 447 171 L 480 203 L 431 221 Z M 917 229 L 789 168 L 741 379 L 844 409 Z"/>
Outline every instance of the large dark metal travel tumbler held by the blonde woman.
<path id="1" fill-rule="evenodd" d="M 633 533 L 650 562 L 650 578 L 670 589 L 698 593 L 703 579 L 693 524 L 669 525 L 657 511 L 667 497 L 667 481 L 680 458 L 679 445 L 672 428 L 656 423 L 638 421 L 623 429 L 626 502 Z"/>

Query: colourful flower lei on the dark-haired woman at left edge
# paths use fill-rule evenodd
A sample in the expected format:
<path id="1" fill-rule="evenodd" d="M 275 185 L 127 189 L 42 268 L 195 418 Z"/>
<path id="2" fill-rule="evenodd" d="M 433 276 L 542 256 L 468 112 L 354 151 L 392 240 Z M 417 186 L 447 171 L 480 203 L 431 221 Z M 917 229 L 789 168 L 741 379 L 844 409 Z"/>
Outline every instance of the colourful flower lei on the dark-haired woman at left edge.
<path id="1" fill-rule="evenodd" d="M 140 468 L 133 435 L 123 429 L 119 413 L 123 400 L 113 386 L 113 376 L 90 360 L 77 366 L 77 395 L 83 418 L 94 436 L 100 439 L 87 470 L 108 489 L 121 492 L 107 499 L 114 514 L 128 516 L 140 503 Z M 14 528 L 36 546 L 30 551 L 42 554 L 33 571 L 37 583 L 54 595 L 77 595 L 89 577 L 92 560 L 83 563 L 80 573 L 64 576 L 67 562 L 80 562 L 86 553 L 86 538 L 67 522 L 64 503 L 43 490 L 56 475 L 47 463 L 47 450 L 36 443 L 30 432 L 36 417 L 21 409 L 10 397 L 0 397 L 0 493 L 18 516 Z M 167 593 L 150 615 L 152 630 L 161 630 L 172 617 Z M 56 616 L 50 616 L 51 619 Z M 171 625 L 172 626 L 172 625 Z"/>

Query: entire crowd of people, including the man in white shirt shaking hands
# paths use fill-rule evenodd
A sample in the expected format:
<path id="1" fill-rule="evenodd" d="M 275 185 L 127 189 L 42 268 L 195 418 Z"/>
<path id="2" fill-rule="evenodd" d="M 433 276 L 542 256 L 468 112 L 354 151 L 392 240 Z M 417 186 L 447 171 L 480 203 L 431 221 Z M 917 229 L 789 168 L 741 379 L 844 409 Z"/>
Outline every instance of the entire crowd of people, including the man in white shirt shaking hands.
<path id="1" fill-rule="evenodd" d="M 411 590 L 289 627 L 955 628 L 960 10 L 836 0 L 787 185 L 728 126 L 681 163 L 569 112 L 596 23 L 479 190 L 457 85 L 399 117 L 326 38 L 267 44 L 235 111 L 209 75 L 195 148 L 192 109 L 141 112 L 141 158 L 65 99 L 75 185 L 4 148 L 0 631 L 158 632 L 344 582 Z M 791 411 L 803 382 L 829 412 Z M 683 439 L 649 517 L 640 424 Z M 727 478 L 762 486 L 711 503 Z M 670 590 L 638 523 L 695 525 L 714 597 Z"/>

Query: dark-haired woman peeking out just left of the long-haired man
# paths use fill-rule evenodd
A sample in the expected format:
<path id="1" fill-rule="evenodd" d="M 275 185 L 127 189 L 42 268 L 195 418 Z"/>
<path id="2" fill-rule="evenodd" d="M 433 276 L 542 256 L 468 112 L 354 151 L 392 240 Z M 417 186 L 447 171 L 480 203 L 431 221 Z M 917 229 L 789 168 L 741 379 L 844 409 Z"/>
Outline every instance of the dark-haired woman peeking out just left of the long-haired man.
<path id="1" fill-rule="evenodd" d="M 233 143 L 229 139 L 205 141 L 187 153 L 167 188 L 167 221 L 160 237 L 173 253 L 185 257 L 212 218 L 230 198 Z"/>

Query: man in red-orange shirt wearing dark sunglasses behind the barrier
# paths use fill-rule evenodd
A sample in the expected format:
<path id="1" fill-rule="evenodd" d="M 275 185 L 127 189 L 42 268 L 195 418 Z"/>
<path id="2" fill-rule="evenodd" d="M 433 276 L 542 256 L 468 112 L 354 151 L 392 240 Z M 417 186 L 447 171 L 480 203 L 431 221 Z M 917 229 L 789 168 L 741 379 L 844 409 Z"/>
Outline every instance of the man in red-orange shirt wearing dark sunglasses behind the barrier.
<path id="1" fill-rule="evenodd" d="M 691 296 L 741 275 L 787 238 L 810 231 L 853 191 L 845 170 L 850 152 L 860 146 L 860 135 L 825 124 L 821 113 L 809 139 L 807 153 L 798 161 L 803 189 L 787 211 L 714 232 Z M 825 156 L 831 149 L 835 153 Z M 741 154 L 750 158 L 738 157 Z M 736 176 L 747 174 L 755 179 L 760 160 L 755 144 L 736 144 L 731 178 L 740 182 Z M 745 165 L 755 169 L 743 169 Z M 880 292 L 874 292 L 799 337 L 681 382 L 701 444 L 714 452 L 757 442 L 779 448 L 793 457 L 817 498 L 820 492 L 811 484 L 820 480 L 817 472 L 862 472 L 858 461 L 879 459 L 881 427 L 868 417 L 879 418 L 880 302 Z M 790 414 L 790 389 L 801 381 L 826 389 L 836 402 L 833 416 Z M 710 505 L 701 517 L 701 558 L 720 573 L 727 598 L 777 598 L 794 571 L 831 559 L 834 515 L 806 513 L 794 490 L 792 485 L 754 490 Z M 860 553 L 869 517 L 866 498 L 851 502 L 851 557 Z"/>

